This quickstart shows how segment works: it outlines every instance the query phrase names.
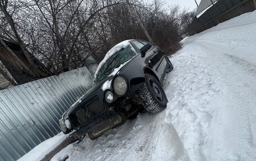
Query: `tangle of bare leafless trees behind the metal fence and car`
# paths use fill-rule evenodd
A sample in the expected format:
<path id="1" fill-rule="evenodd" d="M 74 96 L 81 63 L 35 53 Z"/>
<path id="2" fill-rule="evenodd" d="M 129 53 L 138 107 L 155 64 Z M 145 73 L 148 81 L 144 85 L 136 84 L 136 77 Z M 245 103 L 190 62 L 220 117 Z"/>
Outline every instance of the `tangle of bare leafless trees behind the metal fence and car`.
<path id="1" fill-rule="evenodd" d="M 148 39 L 168 54 L 180 47 L 179 7 L 164 7 L 160 0 L 151 4 L 142 0 L 0 2 L 0 37 L 20 46 L 29 66 L 12 54 L 30 76 L 98 63 L 113 45 L 126 39 Z M 92 57 L 95 61 L 88 61 Z"/>

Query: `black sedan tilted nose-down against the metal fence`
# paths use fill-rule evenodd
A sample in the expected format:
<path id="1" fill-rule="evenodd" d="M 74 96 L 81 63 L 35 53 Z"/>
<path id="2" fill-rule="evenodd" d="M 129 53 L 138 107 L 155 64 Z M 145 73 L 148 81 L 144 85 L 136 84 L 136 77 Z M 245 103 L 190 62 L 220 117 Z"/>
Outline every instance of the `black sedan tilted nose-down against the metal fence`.
<path id="1" fill-rule="evenodd" d="M 100 62 L 92 89 L 63 114 L 61 130 L 77 138 L 87 133 L 93 140 L 143 109 L 162 111 L 168 102 L 162 82 L 172 70 L 157 45 L 144 40 L 117 44 Z"/>

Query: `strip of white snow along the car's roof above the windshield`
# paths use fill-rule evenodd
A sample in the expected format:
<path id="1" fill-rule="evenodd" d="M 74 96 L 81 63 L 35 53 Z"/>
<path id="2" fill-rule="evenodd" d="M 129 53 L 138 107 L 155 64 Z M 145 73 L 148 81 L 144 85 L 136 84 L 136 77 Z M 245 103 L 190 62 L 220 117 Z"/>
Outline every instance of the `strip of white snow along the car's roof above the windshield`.
<path id="1" fill-rule="evenodd" d="M 133 39 L 131 39 L 131 40 L 133 40 Z M 121 43 L 115 45 L 115 47 L 111 48 L 111 49 L 107 52 L 107 54 L 106 54 L 106 56 L 104 57 L 104 59 L 99 63 L 99 66 L 98 66 L 98 68 L 97 68 L 97 70 L 96 70 L 96 72 L 95 72 L 95 74 L 94 74 L 94 77 L 97 76 L 97 73 L 98 73 L 100 67 L 102 67 L 102 65 L 107 61 L 107 59 L 110 58 L 110 57 L 111 57 L 113 54 L 115 54 L 116 52 L 119 52 L 122 48 L 128 47 L 128 45 L 130 45 L 130 41 L 131 41 L 131 40 L 125 40 L 124 42 L 121 42 Z"/>

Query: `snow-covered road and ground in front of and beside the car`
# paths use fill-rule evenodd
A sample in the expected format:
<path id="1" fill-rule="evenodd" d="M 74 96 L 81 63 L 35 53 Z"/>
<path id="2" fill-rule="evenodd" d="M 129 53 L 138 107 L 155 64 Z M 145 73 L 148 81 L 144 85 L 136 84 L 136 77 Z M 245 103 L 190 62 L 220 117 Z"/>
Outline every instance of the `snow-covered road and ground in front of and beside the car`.
<path id="1" fill-rule="evenodd" d="M 256 160 L 256 11 L 182 41 L 161 113 L 139 114 L 52 160 Z"/>

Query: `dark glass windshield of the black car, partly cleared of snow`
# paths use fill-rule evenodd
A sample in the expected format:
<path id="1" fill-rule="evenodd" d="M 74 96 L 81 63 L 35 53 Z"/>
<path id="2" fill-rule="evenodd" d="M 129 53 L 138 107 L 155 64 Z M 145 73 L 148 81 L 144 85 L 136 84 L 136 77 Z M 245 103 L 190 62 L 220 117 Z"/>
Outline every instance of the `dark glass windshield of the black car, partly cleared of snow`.
<path id="1" fill-rule="evenodd" d="M 121 49 L 120 51 L 113 54 L 107 61 L 100 67 L 97 76 L 95 77 L 95 83 L 104 79 L 115 70 L 115 68 L 120 67 L 120 65 L 129 61 L 134 57 L 136 53 L 131 49 L 130 46 Z"/>

